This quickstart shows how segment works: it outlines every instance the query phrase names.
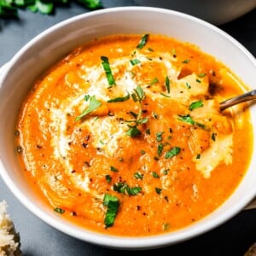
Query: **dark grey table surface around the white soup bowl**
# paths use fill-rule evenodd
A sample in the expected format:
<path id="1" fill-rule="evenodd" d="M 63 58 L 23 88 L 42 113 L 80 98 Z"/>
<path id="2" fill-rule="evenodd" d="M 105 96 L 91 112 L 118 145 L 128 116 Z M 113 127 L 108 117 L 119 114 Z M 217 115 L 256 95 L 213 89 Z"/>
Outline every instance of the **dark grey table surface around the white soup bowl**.
<path id="1" fill-rule="evenodd" d="M 102 1 L 105 8 L 135 5 L 133 1 Z M 70 8 L 58 8 L 55 15 L 32 14 L 20 11 L 20 20 L 0 20 L 0 67 L 30 39 L 43 32 L 49 26 L 79 15 L 89 10 L 72 4 Z M 236 38 L 254 56 L 256 56 L 256 10 L 247 15 L 219 26 Z M 256 74 L 255 74 L 256 75 Z M 1 121 L 1 119 L 0 119 Z M 9 204 L 9 214 L 15 222 L 21 236 L 21 249 L 25 256 L 66 256 L 66 255 L 230 255 L 241 256 L 247 248 L 256 242 L 256 209 L 242 211 L 226 224 L 175 246 L 143 251 L 129 252 L 97 247 L 84 241 L 62 234 L 60 231 L 44 224 L 27 211 L 0 178 L 0 201 Z"/>

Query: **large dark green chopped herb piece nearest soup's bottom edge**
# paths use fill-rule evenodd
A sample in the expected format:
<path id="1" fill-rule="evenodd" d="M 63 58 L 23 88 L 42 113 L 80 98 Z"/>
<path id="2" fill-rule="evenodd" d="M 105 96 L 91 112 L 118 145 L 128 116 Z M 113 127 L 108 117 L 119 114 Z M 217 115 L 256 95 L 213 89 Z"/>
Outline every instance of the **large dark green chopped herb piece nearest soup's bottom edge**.
<path id="1" fill-rule="evenodd" d="M 108 207 L 104 218 L 104 224 L 106 228 L 109 228 L 113 226 L 119 210 L 119 199 L 114 195 L 105 194 L 103 198 L 103 206 Z"/>

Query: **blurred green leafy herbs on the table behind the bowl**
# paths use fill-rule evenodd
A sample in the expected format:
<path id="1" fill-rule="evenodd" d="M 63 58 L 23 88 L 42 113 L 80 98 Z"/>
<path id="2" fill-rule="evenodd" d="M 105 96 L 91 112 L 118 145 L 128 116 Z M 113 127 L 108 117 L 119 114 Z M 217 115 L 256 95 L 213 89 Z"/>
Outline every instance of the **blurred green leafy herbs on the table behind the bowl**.
<path id="1" fill-rule="evenodd" d="M 58 5 L 67 5 L 72 0 L 0 0 L 0 19 L 18 18 L 18 9 L 29 9 L 33 13 L 39 12 L 43 15 L 50 15 Z M 87 9 L 100 9 L 100 0 L 74 0 Z"/>

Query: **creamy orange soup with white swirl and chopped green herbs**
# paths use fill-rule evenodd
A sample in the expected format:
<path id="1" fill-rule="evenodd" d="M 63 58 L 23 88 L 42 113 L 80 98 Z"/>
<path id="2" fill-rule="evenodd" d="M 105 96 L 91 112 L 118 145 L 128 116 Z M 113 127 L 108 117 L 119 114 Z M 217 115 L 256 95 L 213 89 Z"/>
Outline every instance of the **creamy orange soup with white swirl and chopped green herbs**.
<path id="1" fill-rule="evenodd" d="M 252 152 L 245 90 L 222 63 L 160 35 L 114 35 L 74 49 L 32 87 L 16 143 L 49 207 L 101 233 L 151 236 L 219 207 Z"/>

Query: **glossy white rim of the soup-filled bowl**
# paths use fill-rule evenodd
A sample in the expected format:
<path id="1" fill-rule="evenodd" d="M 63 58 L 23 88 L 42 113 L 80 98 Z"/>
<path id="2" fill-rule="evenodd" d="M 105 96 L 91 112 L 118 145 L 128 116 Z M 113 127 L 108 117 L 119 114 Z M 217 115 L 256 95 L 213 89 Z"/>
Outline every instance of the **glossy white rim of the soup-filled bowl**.
<path id="1" fill-rule="evenodd" d="M 47 34 L 55 32 L 55 30 L 57 30 L 61 26 L 67 26 L 69 23 L 72 23 L 80 19 L 86 19 L 90 16 L 111 14 L 111 13 L 123 12 L 123 11 L 131 12 L 131 11 L 138 11 L 138 10 L 165 13 L 168 15 L 176 15 L 176 16 L 185 18 L 187 20 L 191 20 L 195 23 L 200 23 L 202 26 L 207 26 L 207 28 L 209 28 L 210 30 L 217 32 L 222 37 L 229 40 L 232 44 L 235 44 L 236 47 L 239 48 L 244 55 L 247 55 L 247 58 L 253 62 L 253 65 L 256 68 L 256 60 L 254 59 L 253 55 L 244 46 L 242 46 L 238 41 L 236 41 L 235 38 L 232 38 L 228 33 L 222 31 L 217 26 L 214 26 L 208 23 L 207 21 L 201 20 L 192 15 L 186 15 L 171 9 L 130 6 L 130 7 L 116 7 L 116 8 L 95 10 L 82 15 L 76 15 L 67 20 L 63 20 L 55 24 L 54 26 L 50 26 L 48 29 L 44 30 L 44 32 L 39 33 L 38 36 L 36 36 L 35 38 L 32 38 L 27 44 L 25 44 L 13 56 L 13 58 L 8 62 L 8 64 L 3 67 L 2 79 L 4 79 L 5 76 L 8 76 L 11 67 L 15 65 L 16 61 L 19 60 L 20 55 L 26 52 L 26 49 L 29 49 L 33 44 L 36 44 L 38 41 L 40 41 L 41 38 L 44 38 L 44 36 L 46 36 Z M 1 81 L 1 75 L 0 75 L 0 81 Z M 107 236 L 107 235 L 102 235 L 101 233 L 97 233 L 93 231 L 91 232 L 90 230 L 82 230 L 73 225 L 72 225 L 73 228 L 67 227 L 66 222 L 64 223 L 56 222 L 55 218 L 51 218 L 49 214 L 44 212 L 42 209 L 35 208 L 32 201 L 28 201 L 26 196 L 20 193 L 20 189 L 15 185 L 14 181 L 11 179 L 11 177 L 9 177 L 9 173 L 2 166 L 2 160 L 0 161 L 0 169 L 1 169 L 0 173 L 1 173 L 1 176 L 3 177 L 4 183 L 6 183 L 6 185 L 9 187 L 11 192 L 15 195 L 15 197 L 26 207 L 26 209 L 28 209 L 38 218 L 44 220 L 46 224 L 49 224 L 50 226 L 54 227 L 56 230 L 61 230 L 63 233 L 66 233 L 69 236 L 73 236 L 83 241 L 88 241 L 90 243 L 101 245 L 104 247 L 115 247 L 115 248 L 123 248 L 123 249 L 138 249 L 138 248 L 149 249 L 149 248 L 155 248 L 155 247 L 164 247 L 177 242 L 186 241 L 188 239 L 194 238 L 195 236 L 200 236 L 201 234 L 209 230 L 212 230 L 213 228 L 216 228 L 218 225 L 223 224 L 224 222 L 226 222 L 227 220 L 235 216 L 236 213 L 240 212 L 241 209 L 245 207 L 247 203 L 251 201 L 253 197 L 256 195 L 256 188 L 255 188 L 255 190 L 251 191 L 251 193 L 248 193 L 247 196 L 245 196 L 242 201 L 239 201 L 236 206 L 232 207 L 232 209 L 229 212 L 226 212 L 225 214 L 220 215 L 220 218 L 214 218 L 210 222 L 202 223 L 199 226 L 194 226 L 192 230 L 182 229 L 182 230 L 174 231 L 172 233 L 167 233 L 164 235 L 142 236 L 139 238 L 133 237 L 133 236 L 131 237 L 110 236 L 110 235 Z M 175 236 L 172 236 L 172 234 L 174 233 L 175 233 Z"/>

